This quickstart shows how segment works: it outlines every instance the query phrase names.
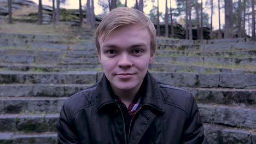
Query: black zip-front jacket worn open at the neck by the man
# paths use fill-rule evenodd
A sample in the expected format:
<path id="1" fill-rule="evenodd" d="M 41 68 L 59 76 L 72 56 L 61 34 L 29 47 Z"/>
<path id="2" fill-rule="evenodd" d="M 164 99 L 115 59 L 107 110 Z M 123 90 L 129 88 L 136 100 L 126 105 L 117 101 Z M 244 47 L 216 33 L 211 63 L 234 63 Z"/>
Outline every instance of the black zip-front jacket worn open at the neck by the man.
<path id="1" fill-rule="evenodd" d="M 141 108 L 125 134 L 106 76 L 65 101 L 56 124 L 59 143 L 207 143 L 194 97 L 147 73 Z"/>

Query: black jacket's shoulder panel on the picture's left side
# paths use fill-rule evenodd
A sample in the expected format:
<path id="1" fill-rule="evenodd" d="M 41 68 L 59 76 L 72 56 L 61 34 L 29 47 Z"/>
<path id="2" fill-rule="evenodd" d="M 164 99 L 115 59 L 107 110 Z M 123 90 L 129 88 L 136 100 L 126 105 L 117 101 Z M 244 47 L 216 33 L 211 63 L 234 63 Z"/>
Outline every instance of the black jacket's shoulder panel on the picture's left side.
<path id="1" fill-rule="evenodd" d="M 84 109 L 85 107 L 90 107 L 94 104 L 94 93 L 97 88 L 97 83 L 91 87 L 88 87 L 78 93 L 75 93 L 67 100 L 65 100 L 63 107 L 68 110 L 69 117 L 72 117 L 75 113 Z"/>

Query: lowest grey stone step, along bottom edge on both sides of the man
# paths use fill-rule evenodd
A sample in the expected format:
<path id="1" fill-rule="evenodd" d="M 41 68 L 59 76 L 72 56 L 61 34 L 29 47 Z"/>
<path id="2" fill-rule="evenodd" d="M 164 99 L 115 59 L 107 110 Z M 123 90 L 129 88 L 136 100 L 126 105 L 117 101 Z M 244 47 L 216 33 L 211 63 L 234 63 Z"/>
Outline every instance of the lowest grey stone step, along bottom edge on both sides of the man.
<path id="1" fill-rule="evenodd" d="M 216 124 L 204 123 L 205 135 L 209 143 L 253 143 L 256 141 L 256 133 L 246 129 L 224 127 Z M 0 133 L 1 143 L 38 143 L 55 144 L 57 134 L 48 133 Z"/>

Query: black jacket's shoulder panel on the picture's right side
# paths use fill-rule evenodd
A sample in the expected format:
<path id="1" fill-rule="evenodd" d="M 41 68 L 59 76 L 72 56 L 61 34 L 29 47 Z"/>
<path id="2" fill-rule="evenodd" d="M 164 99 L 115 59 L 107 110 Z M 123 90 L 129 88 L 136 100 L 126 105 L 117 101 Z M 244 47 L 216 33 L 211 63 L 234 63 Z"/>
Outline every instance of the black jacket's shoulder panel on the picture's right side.
<path id="1" fill-rule="evenodd" d="M 187 89 L 158 82 L 162 93 L 163 103 L 172 105 L 184 112 L 189 112 L 189 106 L 194 103 L 193 95 Z"/>

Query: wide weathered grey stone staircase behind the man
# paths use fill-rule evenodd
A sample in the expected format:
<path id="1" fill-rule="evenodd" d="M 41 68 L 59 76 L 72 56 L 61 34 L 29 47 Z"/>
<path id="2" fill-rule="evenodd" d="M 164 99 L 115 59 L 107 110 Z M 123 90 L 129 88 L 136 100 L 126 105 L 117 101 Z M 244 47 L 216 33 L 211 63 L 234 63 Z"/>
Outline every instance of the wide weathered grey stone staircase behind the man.
<path id="1" fill-rule="evenodd" d="M 256 43 L 159 38 L 149 69 L 193 93 L 209 143 L 256 142 Z M 57 143 L 63 101 L 101 76 L 93 37 L 0 33 L 0 143 Z"/>

